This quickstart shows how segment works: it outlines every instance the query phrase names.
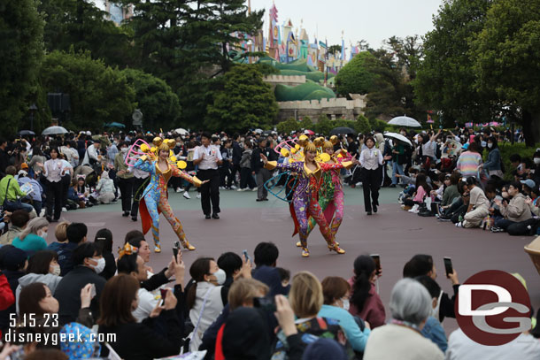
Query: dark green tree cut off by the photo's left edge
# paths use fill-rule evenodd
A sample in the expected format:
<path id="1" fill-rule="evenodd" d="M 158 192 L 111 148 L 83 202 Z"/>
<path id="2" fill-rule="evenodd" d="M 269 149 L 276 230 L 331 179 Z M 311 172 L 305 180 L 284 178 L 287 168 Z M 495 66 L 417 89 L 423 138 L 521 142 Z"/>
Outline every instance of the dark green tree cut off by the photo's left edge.
<path id="1" fill-rule="evenodd" d="M 4 1 L 0 13 L 0 134 L 11 136 L 35 102 L 28 97 L 37 92 L 43 21 L 35 0 Z"/>

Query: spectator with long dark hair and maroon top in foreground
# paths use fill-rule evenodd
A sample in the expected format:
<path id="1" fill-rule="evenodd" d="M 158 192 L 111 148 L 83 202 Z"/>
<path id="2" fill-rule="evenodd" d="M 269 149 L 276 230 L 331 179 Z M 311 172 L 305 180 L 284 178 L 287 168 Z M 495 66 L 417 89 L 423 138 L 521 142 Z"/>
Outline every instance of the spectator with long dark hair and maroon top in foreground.
<path id="1" fill-rule="evenodd" d="M 357 257 L 354 260 L 354 276 L 349 279 L 352 289 L 349 312 L 352 316 L 366 320 L 372 329 L 383 326 L 386 320 L 384 305 L 374 284 L 376 279 L 373 258 L 366 255 Z"/>

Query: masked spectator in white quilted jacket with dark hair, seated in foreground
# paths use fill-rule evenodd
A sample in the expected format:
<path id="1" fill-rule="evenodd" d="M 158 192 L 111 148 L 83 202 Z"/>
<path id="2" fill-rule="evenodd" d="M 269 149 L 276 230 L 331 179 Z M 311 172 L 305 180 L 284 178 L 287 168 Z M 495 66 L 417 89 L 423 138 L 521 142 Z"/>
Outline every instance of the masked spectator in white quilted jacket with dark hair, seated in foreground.
<path id="1" fill-rule="evenodd" d="M 189 267 L 189 275 L 196 281 L 187 290 L 189 318 L 195 326 L 189 341 L 190 351 L 197 351 L 203 334 L 223 310 L 221 297 L 225 272 L 210 257 L 200 257 Z"/>

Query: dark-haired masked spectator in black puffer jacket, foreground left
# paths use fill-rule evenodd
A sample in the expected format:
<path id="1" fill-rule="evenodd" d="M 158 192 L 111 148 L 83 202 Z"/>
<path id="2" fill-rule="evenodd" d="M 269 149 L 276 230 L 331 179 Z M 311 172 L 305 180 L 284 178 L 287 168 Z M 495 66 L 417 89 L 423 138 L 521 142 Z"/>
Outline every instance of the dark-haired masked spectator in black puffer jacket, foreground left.
<path id="1" fill-rule="evenodd" d="M 69 236 L 69 227 L 67 230 Z M 104 288 L 105 280 L 97 274 L 103 272 L 105 260 L 96 244 L 82 242 L 75 248 L 73 250 L 73 266 L 73 270 L 60 280 L 54 292 L 58 303 L 60 303 L 58 321 L 61 325 L 75 321 L 75 318 L 77 318 L 78 310 L 81 308 L 79 294 L 87 284 L 93 284 L 96 290 L 96 297 L 90 305 L 92 315 L 94 318 L 99 315 L 99 297 Z M 105 299 L 111 298 L 105 297 Z"/>

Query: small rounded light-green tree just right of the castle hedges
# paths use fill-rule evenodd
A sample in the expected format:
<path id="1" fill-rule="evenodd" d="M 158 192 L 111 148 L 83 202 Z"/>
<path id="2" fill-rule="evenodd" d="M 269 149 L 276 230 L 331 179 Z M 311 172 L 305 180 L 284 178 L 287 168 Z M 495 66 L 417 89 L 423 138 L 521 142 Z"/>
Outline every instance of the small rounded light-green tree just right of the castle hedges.
<path id="1" fill-rule="evenodd" d="M 370 92 L 374 87 L 376 63 L 377 59 L 368 51 L 353 57 L 336 75 L 336 92 L 342 96 Z"/>

